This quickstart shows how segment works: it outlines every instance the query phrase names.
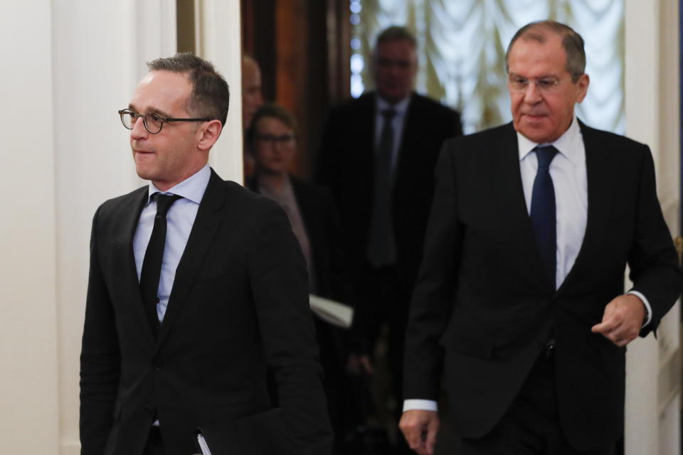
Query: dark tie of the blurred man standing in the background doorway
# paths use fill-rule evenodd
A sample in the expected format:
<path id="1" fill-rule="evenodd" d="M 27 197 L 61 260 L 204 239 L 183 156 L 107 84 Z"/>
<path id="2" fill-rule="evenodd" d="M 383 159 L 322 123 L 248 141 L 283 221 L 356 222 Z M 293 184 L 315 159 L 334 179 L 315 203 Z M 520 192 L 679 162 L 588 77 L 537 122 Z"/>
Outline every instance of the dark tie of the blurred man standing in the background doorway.
<path id="1" fill-rule="evenodd" d="M 382 111 L 384 124 L 375 158 L 375 191 L 368 241 L 368 261 L 374 267 L 396 262 L 396 242 L 391 220 L 391 158 L 393 155 L 393 126 L 396 109 Z"/>

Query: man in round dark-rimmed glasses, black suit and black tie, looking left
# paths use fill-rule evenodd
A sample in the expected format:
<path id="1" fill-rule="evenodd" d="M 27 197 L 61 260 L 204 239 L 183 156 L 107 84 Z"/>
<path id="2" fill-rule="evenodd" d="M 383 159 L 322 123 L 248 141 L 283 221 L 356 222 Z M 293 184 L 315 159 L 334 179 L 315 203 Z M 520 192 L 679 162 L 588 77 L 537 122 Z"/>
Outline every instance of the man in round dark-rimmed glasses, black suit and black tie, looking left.
<path id="1" fill-rule="evenodd" d="M 119 114 L 149 185 L 103 203 L 92 223 L 81 453 L 188 455 L 198 427 L 263 421 L 255 447 L 275 424 L 281 453 L 329 454 L 306 265 L 289 220 L 207 164 L 228 85 L 191 54 L 148 66 Z"/>

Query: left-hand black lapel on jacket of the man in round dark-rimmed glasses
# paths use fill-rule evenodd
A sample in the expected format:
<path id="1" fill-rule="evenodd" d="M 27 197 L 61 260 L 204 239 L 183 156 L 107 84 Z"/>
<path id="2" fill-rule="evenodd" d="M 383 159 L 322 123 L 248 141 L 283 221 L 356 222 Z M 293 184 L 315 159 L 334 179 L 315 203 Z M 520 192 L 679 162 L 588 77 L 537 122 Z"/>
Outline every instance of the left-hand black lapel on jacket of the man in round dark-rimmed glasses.
<path id="1" fill-rule="evenodd" d="M 149 326 L 149 317 L 144 311 L 142 294 L 140 293 L 140 283 L 137 279 L 137 269 L 135 267 L 135 256 L 133 253 L 133 238 L 137 230 L 140 213 L 148 200 L 149 189 L 147 186 L 140 188 L 134 193 L 132 204 L 127 205 L 126 210 L 121 215 L 120 225 L 122 226 L 121 237 L 117 240 L 115 248 L 117 250 L 117 269 L 121 271 L 122 285 L 121 290 L 125 294 L 125 301 L 129 301 L 133 311 L 137 313 L 137 320 L 142 323 L 142 329 L 149 343 L 154 343 L 154 333 Z"/>

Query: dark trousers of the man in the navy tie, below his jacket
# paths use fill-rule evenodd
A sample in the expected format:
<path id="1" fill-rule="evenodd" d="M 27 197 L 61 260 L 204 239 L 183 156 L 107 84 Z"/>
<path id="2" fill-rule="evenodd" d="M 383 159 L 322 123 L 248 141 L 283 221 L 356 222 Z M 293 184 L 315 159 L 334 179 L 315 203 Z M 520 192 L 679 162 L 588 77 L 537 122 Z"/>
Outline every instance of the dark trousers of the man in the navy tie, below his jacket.
<path id="1" fill-rule="evenodd" d="M 577 451 L 559 422 L 552 356 L 542 353 L 521 392 L 489 434 L 463 438 L 463 455 L 613 455 L 615 445 Z"/>

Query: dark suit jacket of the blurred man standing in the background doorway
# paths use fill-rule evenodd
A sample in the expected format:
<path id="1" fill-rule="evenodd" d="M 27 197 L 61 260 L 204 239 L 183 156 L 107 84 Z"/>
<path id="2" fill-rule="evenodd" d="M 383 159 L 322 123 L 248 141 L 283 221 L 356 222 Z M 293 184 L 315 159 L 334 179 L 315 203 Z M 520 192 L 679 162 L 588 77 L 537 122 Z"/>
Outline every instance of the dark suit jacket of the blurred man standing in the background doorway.
<path id="1" fill-rule="evenodd" d="M 374 195 L 376 94 L 362 95 L 330 110 L 322 134 L 316 181 L 332 191 L 342 223 L 351 279 L 362 281 Z M 408 105 L 393 186 L 398 293 L 396 313 L 407 311 L 415 283 L 434 189 L 434 167 L 445 139 L 460 136 L 460 114 L 413 93 Z M 360 299 L 360 296 L 359 296 Z"/>

